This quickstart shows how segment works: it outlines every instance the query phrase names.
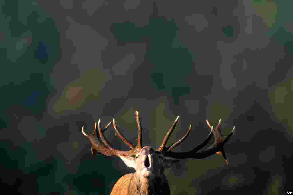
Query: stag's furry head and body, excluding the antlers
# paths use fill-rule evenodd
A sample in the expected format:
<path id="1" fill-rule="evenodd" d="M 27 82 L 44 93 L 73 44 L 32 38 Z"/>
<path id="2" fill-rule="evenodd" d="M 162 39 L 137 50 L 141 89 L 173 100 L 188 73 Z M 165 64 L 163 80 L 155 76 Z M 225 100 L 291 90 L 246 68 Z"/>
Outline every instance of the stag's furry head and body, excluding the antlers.
<path id="1" fill-rule="evenodd" d="M 146 154 L 142 150 L 147 151 Z M 172 160 L 164 159 L 160 151 L 154 151 L 150 146 L 145 146 L 136 157 L 121 158 L 127 166 L 133 166 L 135 173 L 121 177 L 113 187 L 111 195 L 134 195 L 134 194 L 170 194 L 168 181 L 164 174 L 170 168 Z M 149 159 L 150 172 L 146 174 L 145 161 Z M 132 163 L 132 164 L 130 164 Z"/>

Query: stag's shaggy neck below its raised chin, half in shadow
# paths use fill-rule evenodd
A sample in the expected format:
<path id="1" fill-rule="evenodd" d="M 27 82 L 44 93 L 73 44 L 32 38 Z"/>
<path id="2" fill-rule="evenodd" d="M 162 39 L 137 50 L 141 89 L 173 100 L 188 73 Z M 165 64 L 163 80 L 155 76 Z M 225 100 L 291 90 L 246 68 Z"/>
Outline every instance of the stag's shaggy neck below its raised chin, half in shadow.
<path id="1" fill-rule="evenodd" d="M 135 195 L 170 194 L 169 185 L 164 174 L 161 177 L 141 178 L 134 173 L 129 185 L 129 191 L 129 194 Z"/>

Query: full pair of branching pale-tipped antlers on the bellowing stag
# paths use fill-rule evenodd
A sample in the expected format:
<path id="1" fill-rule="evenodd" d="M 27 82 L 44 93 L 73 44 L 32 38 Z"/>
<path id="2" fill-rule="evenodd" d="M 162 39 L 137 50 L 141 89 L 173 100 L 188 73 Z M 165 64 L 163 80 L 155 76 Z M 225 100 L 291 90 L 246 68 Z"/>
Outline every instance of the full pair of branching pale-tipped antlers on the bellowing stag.
<path id="1" fill-rule="evenodd" d="M 121 151 L 121 150 L 117 150 L 117 149 L 113 148 L 113 146 L 104 137 L 103 132 L 108 129 L 108 127 L 110 126 L 110 124 L 112 122 L 109 122 L 104 127 L 104 129 L 102 131 L 101 126 L 100 126 L 100 120 L 98 121 L 98 133 L 99 133 L 98 137 L 96 135 L 97 123 L 95 123 L 93 133 L 89 134 L 89 135 L 84 132 L 84 127 L 82 127 L 82 133 L 84 134 L 84 136 L 86 136 L 90 140 L 90 142 L 92 144 L 92 147 L 91 147 L 92 154 L 96 155 L 98 153 L 98 154 L 104 154 L 106 156 L 132 156 L 132 155 L 136 155 L 138 152 L 140 152 L 140 150 L 142 149 L 142 127 L 141 127 L 141 122 L 140 122 L 138 111 L 135 111 L 135 119 L 136 119 L 137 127 L 138 127 L 137 146 L 134 146 L 134 144 L 132 144 L 130 141 L 128 141 L 122 135 L 122 133 L 119 131 L 119 129 L 115 123 L 115 118 L 113 118 L 113 127 L 115 129 L 115 132 L 118 135 L 118 137 L 120 137 L 120 139 L 130 147 L 131 150 L 129 150 L 129 151 Z M 206 120 L 207 125 L 210 128 L 210 132 L 209 132 L 209 135 L 207 136 L 207 138 L 201 144 L 194 147 L 190 151 L 173 152 L 172 150 L 176 146 L 181 144 L 188 137 L 188 135 L 191 131 L 191 125 L 190 125 L 188 128 L 188 131 L 185 133 L 185 135 L 181 139 L 179 139 L 175 143 L 171 144 L 171 146 L 166 147 L 166 143 L 167 143 L 169 137 L 171 136 L 173 130 L 175 129 L 176 124 L 178 122 L 178 119 L 179 119 L 179 116 L 175 119 L 175 121 L 171 125 L 169 131 L 166 133 L 166 136 L 164 137 L 161 146 L 159 147 L 159 149 L 157 149 L 158 151 L 161 151 L 163 153 L 163 155 L 166 157 L 172 157 L 172 158 L 177 158 L 177 159 L 184 159 L 184 158 L 202 159 L 202 158 L 206 158 L 208 156 L 211 156 L 213 154 L 218 154 L 218 155 L 222 155 L 224 157 L 225 162 L 228 165 L 228 159 L 226 158 L 224 144 L 229 139 L 231 139 L 231 137 L 234 135 L 235 126 L 229 135 L 223 136 L 220 131 L 221 119 L 219 120 L 219 123 L 215 129 L 213 128 L 213 126 L 211 126 L 209 124 L 209 121 Z M 206 150 L 198 152 L 205 145 L 207 145 L 207 143 L 212 139 L 212 134 L 214 134 L 214 137 L 215 137 L 214 144 L 209 146 L 209 148 L 207 148 Z M 101 140 L 102 140 L 102 143 L 101 143 Z"/>

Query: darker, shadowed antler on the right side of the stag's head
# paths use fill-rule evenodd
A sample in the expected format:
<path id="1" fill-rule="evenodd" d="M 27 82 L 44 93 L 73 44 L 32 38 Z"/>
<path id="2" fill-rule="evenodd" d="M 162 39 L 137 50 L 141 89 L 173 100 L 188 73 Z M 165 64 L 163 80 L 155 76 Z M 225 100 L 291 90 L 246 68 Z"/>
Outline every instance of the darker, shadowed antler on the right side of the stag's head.
<path id="1" fill-rule="evenodd" d="M 203 141 L 201 144 L 199 144 L 198 146 L 196 146 L 195 148 L 193 148 L 190 151 L 187 152 L 173 152 L 172 150 L 178 146 L 190 133 L 191 130 L 191 125 L 189 126 L 188 131 L 186 132 L 186 134 L 179 139 L 176 143 L 172 144 L 169 147 L 165 147 L 166 142 L 168 141 L 171 133 L 173 132 L 176 123 L 178 121 L 179 116 L 175 119 L 174 123 L 171 125 L 170 130 L 167 132 L 165 138 L 163 139 L 163 142 L 161 144 L 161 146 L 159 147 L 159 151 L 162 151 L 164 153 L 164 156 L 166 157 L 172 157 L 172 158 L 177 158 L 177 159 L 184 159 L 184 158 L 195 158 L 195 159 L 202 159 L 202 158 L 206 158 L 208 156 L 211 156 L 213 154 L 218 154 L 218 155 L 222 155 L 225 159 L 226 164 L 228 165 L 228 159 L 226 158 L 226 153 L 224 150 L 224 144 L 226 143 L 226 141 L 228 141 L 229 139 L 231 139 L 231 137 L 233 136 L 233 134 L 235 133 L 235 126 L 232 129 L 232 132 L 227 135 L 227 136 L 223 136 L 221 131 L 220 131 L 220 127 L 221 127 L 221 119 L 219 120 L 219 123 L 217 125 L 217 127 L 214 129 L 213 126 L 211 126 L 209 124 L 209 121 L 207 121 L 207 125 L 209 126 L 209 128 L 211 129 L 209 135 L 207 136 L 207 138 L 205 139 L 205 141 Z M 212 139 L 212 133 L 214 134 L 215 137 L 215 142 L 214 144 L 212 144 L 209 148 L 207 148 L 204 151 L 201 152 L 197 152 L 200 149 L 202 149 L 211 139 Z"/>

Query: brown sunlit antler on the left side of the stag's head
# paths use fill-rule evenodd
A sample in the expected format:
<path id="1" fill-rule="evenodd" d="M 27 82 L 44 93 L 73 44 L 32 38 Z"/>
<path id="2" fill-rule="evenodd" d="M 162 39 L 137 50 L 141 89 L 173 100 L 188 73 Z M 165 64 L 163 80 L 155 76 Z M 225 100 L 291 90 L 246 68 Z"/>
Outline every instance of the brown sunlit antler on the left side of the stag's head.
<path id="1" fill-rule="evenodd" d="M 100 119 L 99 119 L 99 121 L 98 121 L 99 137 L 97 137 L 97 135 L 96 135 L 97 123 L 95 123 L 95 127 L 94 127 L 93 132 L 89 135 L 84 132 L 84 127 L 82 127 L 82 133 L 84 134 L 84 136 L 86 136 L 90 140 L 90 142 L 92 144 L 92 148 L 91 148 L 92 154 L 96 155 L 98 153 L 98 154 L 104 154 L 105 156 L 132 156 L 132 155 L 136 155 L 140 151 L 140 149 L 142 149 L 142 127 L 141 127 L 138 111 L 135 111 L 135 119 L 136 119 L 137 126 L 138 126 L 137 146 L 134 146 L 130 141 L 128 141 L 122 135 L 122 133 L 118 130 L 118 127 L 115 123 L 115 118 L 113 118 L 113 127 L 115 129 L 115 132 L 117 133 L 118 137 L 120 137 L 120 139 L 130 147 L 131 150 L 129 150 L 129 151 L 121 151 L 121 150 L 115 149 L 108 142 L 108 140 L 104 137 L 103 132 L 108 129 L 108 127 L 110 126 L 110 124 L 112 122 L 109 122 L 102 131 L 101 126 L 100 126 Z M 102 140 L 103 143 L 101 143 L 100 140 Z"/>

